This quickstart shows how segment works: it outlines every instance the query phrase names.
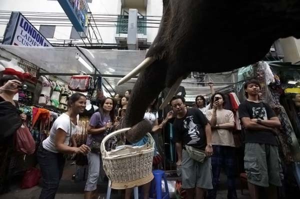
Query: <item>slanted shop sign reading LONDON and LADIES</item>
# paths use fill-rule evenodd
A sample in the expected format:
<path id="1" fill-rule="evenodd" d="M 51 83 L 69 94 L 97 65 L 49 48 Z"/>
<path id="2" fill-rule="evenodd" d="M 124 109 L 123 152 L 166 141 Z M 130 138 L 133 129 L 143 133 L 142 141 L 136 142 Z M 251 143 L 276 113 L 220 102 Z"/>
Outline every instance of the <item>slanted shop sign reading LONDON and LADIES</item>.
<path id="1" fill-rule="evenodd" d="M 2 44 L 52 46 L 51 43 L 20 13 L 11 12 Z"/>

